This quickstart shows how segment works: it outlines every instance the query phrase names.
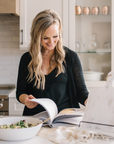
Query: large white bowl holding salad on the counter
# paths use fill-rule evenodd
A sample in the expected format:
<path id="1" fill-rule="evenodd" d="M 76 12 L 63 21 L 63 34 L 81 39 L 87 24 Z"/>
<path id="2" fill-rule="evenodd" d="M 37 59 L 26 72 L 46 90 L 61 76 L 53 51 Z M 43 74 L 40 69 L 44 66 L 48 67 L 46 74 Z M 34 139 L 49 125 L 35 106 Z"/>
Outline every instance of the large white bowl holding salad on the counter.
<path id="1" fill-rule="evenodd" d="M 0 125 L 4 124 L 12 124 L 19 122 L 20 120 L 25 120 L 26 122 L 37 124 L 37 126 L 33 126 L 30 128 L 22 128 L 22 129 L 0 129 L 0 139 L 7 141 L 18 141 L 18 140 L 26 140 L 34 137 L 42 127 L 42 121 L 37 118 L 31 117 L 6 117 L 0 118 Z"/>

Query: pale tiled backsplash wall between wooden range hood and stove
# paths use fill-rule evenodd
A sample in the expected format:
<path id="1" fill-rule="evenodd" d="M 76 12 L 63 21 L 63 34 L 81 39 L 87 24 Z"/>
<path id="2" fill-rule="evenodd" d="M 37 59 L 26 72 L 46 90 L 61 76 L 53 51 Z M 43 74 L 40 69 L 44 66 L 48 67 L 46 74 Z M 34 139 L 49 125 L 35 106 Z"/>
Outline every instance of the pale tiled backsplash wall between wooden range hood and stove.
<path id="1" fill-rule="evenodd" d="M 0 84 L 16 84 L 24 52 L 19 49 L 19 17 L 0 14 Z"/>

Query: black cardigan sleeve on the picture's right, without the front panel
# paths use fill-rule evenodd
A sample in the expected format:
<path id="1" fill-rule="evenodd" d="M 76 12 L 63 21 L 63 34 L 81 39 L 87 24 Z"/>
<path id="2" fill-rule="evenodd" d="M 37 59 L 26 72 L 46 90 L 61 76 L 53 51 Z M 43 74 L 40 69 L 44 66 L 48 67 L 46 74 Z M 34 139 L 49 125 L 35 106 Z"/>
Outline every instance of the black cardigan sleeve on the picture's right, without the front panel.
<path id="1" fill-rule="evenodd" d="M 76 86 L 76 92 L 78 96 L 78 102 L 84 105 L 84 102 L 88 97 L 88 91 L 84 81 L 81 62 L 78 55 L 75 52 L 72 52 L 71 57 L 72 57 L 72 64 L 73 64 L 72 71 L 73 71 L 73 76 L 74 76 L 74 81 Z"/>

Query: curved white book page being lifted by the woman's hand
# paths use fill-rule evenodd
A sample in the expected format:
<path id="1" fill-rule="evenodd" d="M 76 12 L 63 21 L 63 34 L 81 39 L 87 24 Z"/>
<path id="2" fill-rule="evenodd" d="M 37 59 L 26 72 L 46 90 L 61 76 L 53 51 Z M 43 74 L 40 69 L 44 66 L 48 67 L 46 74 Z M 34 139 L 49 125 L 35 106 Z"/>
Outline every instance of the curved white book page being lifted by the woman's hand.
<path id="1" fill-rule="evenodd" d="M 47 111 L 50 122 L 52 123 L 55 116 L 58 114 L 58 109 L 54 101 L 48 98 L 31 99 L 30 101 L 40 104 Z"/>

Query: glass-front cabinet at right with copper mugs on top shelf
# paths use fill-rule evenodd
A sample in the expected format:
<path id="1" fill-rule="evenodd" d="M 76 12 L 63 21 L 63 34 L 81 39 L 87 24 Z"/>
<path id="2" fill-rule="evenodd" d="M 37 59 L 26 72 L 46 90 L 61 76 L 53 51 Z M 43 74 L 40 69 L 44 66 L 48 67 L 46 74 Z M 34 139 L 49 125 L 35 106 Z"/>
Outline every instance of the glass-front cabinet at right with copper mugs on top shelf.
<path id="1" fill-rule="evenodd" d="M 72 39 L 74 50 L 77 52 L 83 71 L 97 71 L 104 74 L 99 81 L 86 81 L 87 87 L 102 87 L 106 83 L 106 75 L 111 70 L 114 71 L 114 1 L 113 0 L 71 0 L 73 15 L 70 21 L 71 29 L 74 29 Z M 76 6 L 82 8 L 81 14 L 74 13 Z M 108 14 L 102 13 L 103 6 L 108 6 Z M 90 13 L 84 13 L 84 7 L 90 8 Z M 92 13 L 92 8 L 98 7 L 99 13 Z M 73 10 L 74 9 L 74 10 Z M 87 8 L 86 8 L 87 12 Z M 73 25 L 72 25 L 73 23 Z M 74 25 L 75 24 L 75 25 Z M 89 47 L 92 34 L 96 34 L 98 47 Z M 72 34 L 69 35 L 72 37 Z M 89 49 L 90 48 L 90 49 Z"/>

